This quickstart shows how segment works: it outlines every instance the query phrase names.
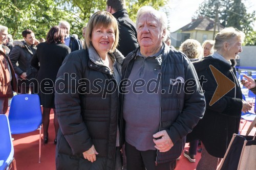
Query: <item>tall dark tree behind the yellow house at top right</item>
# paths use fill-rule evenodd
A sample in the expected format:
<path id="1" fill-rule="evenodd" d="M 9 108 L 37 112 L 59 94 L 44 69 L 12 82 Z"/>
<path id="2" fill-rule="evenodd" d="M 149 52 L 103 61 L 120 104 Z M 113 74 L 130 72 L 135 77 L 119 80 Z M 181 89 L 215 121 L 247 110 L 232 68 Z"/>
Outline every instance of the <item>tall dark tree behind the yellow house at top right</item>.
<path id="1" fill-rule="evenodd" d="M 218 11 L 216 6 L 218 4 Z M 239 10 L 238 10 L 239 9 Z M 202 3 L 202 6 L 196 12 L 198 16 L 208 16 L 215 19 L 215 14 L 218 14 L 220 24 L 224 27 L 234 27 L 243 31 L 246 34 L 245 45 L 251 45 L 249 40 L 253 34 L 253 22 L 256 20 L 255 11 L 247 13 L 245 5 L 241 0 L 207 0 Z"/>

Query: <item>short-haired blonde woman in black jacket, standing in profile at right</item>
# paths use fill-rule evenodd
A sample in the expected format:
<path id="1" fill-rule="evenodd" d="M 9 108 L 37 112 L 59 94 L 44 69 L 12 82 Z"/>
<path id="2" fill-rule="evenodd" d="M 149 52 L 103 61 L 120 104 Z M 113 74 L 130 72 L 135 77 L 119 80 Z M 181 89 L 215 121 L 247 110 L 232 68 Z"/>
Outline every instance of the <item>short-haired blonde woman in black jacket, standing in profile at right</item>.
<path id="1" fill-rule="evenodd" d="M 236 77 L 235 59 L 242 52 L 244 33 L 234 28 L 225 28 L 215 37 L 216 52 L 209 57 L 194 62 L 199 79 L 207 80 L 202 84 L 205 91 L 206 110 L 204 117 L 188 134 L 187 139 L 201 139 L 202 155 L 197 170 L 217 169 L 219 158 L 223 158 L 233 133 L 238 133 L 241 111 L 250 110 L 251 106 L 242 100 L 242 92 Z M 218 69 L 234 83 L 234 88 L 221 96 L 217 86 L 228 86 L 225 80 L 217 84 L 210 65 Z M 220 82 L 218 82 L 220 83 Z M 212 96 L 219 100 L 211 103 Z M 216 99 L 216 98 L 215 98 Z"/>

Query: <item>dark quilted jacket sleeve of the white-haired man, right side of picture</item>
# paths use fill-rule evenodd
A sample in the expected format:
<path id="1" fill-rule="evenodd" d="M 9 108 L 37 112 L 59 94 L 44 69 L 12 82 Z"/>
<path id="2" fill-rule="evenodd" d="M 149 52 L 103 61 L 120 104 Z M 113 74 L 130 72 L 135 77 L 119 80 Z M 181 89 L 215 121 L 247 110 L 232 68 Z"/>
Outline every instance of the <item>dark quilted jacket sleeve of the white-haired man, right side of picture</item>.
<path id="1" fill-rule="evenodd" d="M 197 125 L 198 121 L 203 117 L 205 111 L 205 98 L 196 70 L 191 62 L 185 68 L 185 86 L 186 82 L 194 80 L 195 86 L 187 88 L 185 91 L 184 106 L 176 121 L 167 130 L 167 133 L 175 144 L 178 140 L 185 137 Z"/>

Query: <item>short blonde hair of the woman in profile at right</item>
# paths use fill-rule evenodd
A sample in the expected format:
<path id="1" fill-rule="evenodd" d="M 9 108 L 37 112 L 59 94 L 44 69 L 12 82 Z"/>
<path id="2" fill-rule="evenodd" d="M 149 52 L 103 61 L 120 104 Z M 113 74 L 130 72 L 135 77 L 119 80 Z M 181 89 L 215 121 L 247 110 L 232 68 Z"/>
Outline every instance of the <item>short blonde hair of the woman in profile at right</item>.
<path id="1" fill-rule="evenodd" d="M 241 40 L 243 42 L 244 38 L 245 34 L 242 31 L 233 27 L 224 28 L 215 36 L 214 49 L 219 51 L 222 49 L 224 42 L 236 43 L 236 40 Z"/>

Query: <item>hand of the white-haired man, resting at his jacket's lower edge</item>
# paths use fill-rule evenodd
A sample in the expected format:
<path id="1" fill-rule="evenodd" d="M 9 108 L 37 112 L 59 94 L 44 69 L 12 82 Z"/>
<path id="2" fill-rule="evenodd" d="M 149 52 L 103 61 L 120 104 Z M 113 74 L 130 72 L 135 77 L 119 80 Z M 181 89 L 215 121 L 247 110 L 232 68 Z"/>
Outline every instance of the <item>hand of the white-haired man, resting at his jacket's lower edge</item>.
<path id="1" fill-rule="evenodd" d="M 174 143 L 172 139 L 170 139 L 166 130 L 157 132 L 156 134 L 153 135 L 153 137 L 154 138 L 161 137 L 160 139 L 153 139 L 154 143 L 156 144 L 155 148 L 160 152 L 167 152 L 174 146 Z"/>

